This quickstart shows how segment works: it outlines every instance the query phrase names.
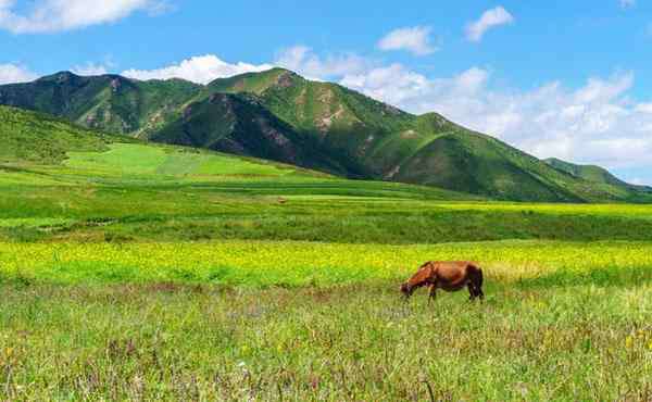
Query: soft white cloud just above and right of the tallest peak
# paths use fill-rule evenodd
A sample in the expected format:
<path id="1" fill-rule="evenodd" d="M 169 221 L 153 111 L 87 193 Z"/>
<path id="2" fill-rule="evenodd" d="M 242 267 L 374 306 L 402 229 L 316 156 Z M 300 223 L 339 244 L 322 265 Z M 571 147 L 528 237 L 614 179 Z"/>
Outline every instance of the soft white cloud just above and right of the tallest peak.
<path id="1" fill-rule="evenodd" d="M 311 79 L 331 79 L 366 70 L 365 59 L 353 53 L 330 54 L 322 58 L 311 48 L 294 46 L 278 53 L 275 65 L 297 72 Z"/>

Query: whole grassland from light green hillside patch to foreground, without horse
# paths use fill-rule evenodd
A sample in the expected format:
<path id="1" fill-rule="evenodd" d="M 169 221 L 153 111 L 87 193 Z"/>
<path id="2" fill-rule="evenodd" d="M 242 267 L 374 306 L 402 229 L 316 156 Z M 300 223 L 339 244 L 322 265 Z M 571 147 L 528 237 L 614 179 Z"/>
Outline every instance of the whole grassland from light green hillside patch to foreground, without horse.
<path id="1" fill-rule="evenodd" d="M 651 206 L 67 156 L 0 164 L 1 400 L 652 399 Z M 486 302 L 403 302 L 426 260 Z"/>

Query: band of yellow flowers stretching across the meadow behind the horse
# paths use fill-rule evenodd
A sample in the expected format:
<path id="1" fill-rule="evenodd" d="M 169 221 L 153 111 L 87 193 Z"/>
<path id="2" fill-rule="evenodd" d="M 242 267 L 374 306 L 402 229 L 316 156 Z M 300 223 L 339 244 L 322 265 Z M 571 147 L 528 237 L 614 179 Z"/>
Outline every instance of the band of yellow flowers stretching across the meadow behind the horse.
<path id="1" fill-rule="evenodd" d="M 209 281 L 333 285 L 397 279 L 429 260 L 473 260 L 489 278 L 652 267 L 649 242 L 499 241 L 431 246 L 284 241 L 0 243 L 0 275 L 42 281 Z"/>

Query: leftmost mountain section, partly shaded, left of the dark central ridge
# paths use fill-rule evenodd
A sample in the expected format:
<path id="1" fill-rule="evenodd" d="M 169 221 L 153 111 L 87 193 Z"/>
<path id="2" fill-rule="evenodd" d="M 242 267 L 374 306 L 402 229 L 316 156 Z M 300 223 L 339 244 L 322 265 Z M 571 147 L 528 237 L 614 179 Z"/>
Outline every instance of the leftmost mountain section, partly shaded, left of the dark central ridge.
<path id="1" fill-rule="evenodd" d="M 201 86 L 181 79 L 139 81 L 64 72 L 0 86 L 0 104 L 64 117 L 89 128 L 146 137 L 179 117 Z"/>

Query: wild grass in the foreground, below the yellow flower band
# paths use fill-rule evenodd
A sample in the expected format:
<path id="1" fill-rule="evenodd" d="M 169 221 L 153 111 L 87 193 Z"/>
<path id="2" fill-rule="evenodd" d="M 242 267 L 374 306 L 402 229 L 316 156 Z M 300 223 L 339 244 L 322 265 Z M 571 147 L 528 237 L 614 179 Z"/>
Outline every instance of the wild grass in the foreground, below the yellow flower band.
<path id="1" fill-rule="evenodd" d="M 645 278 L 652 278 L 650 272 Z M 649 400 L 652 288 L 0 287 L 7 399 Z"/>

